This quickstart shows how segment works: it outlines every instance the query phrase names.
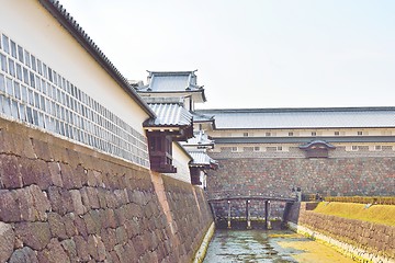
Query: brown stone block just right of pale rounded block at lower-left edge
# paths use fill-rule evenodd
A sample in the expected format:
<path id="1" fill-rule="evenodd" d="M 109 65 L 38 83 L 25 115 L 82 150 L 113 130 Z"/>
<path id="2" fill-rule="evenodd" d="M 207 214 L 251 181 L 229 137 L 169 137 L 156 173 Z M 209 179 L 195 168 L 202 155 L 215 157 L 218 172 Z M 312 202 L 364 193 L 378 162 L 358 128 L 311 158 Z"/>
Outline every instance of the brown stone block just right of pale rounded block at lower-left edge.
<path id="1" fill-rule="evenodd" d="M 15 224 L 15 233 L 24 244 L 34 250 L 43 250 L 50 241 L 48 222 Z"/>

